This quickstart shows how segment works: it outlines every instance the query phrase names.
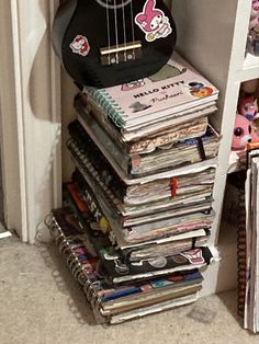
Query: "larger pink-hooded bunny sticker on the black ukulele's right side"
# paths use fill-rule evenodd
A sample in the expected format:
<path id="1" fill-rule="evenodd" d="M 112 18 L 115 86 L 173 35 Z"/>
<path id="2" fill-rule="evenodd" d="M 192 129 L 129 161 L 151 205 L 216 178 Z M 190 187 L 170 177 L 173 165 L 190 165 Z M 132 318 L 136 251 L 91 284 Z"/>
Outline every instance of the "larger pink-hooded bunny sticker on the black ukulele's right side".
<path id="1" fill-rule="evenodd" d="M 147 0 L 143 12 L 135 16 L 135 23 L 146 34 L 147 42 L 167 37 L 172 32 L 168 16 L 155 7 L 156 0 Z"/>

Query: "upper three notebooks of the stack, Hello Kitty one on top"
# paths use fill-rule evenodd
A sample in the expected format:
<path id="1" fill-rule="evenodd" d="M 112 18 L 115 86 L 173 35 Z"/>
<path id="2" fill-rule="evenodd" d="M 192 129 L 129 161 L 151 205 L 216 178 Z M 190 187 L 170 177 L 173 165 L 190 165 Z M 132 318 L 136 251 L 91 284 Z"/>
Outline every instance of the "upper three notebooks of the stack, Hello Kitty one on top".
<path id="1" fill-rule="evenodd" d="M 85 87 L 78 121 L 123 179 L 136 179 L 216 156 L 207 125 L 218 91 L 179 55 L 157 74 L 108 89 Z"/>

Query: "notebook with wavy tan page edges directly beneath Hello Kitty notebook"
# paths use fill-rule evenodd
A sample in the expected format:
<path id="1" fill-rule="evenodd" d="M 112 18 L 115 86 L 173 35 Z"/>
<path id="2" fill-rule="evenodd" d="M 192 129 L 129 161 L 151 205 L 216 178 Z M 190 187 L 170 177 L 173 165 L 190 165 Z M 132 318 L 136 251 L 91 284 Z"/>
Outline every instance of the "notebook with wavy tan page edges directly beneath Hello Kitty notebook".
<path id="1" fill-rule="evenodd" d="M 215 111 L 213 105 L 200 110 L 193 108 L 191 115 L 184 115 L 185 121 L 180 124 L 169 119 L 144 128 L 138 126 L 133 133 L 126 134 L 119 130 L 97 104 L 86 100 L 85 94 L 78 93 L 75 96 L 74 106 L 92 130 L 94 127 L 99 127 L 99 131 L 104 130 L 125 153 L 150 152 L 156 147 L 202 136 L 206 130 L 207 115 Z"/>

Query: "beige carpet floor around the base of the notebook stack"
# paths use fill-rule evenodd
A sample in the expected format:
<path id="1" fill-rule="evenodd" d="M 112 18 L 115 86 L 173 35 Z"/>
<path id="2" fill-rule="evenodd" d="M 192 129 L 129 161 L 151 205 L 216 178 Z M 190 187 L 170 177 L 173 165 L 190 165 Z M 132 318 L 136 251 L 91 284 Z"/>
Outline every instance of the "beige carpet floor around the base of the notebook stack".
<path id="1" fill-rule="evenodd" d="M 97 325 L 55 246 L 12 237 L 0 240 L 0 343 L 258 344 L 259 335 L 241 328 L 235 290 L 127 323 Z"/>

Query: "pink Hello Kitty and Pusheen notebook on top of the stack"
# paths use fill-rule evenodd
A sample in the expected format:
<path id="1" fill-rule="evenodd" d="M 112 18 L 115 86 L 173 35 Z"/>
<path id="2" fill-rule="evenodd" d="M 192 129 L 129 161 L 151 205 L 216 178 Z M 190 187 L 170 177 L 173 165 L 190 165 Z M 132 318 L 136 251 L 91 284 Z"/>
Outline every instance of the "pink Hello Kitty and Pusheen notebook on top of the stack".
<path id="1" fill-rule="evenodd" d="M 218 90 L 180 55 L 156 74 L 106 89 L 85 87 L 87 93 L 119 127 L 147 123 L 184 110 L 209 104 Z"/>

